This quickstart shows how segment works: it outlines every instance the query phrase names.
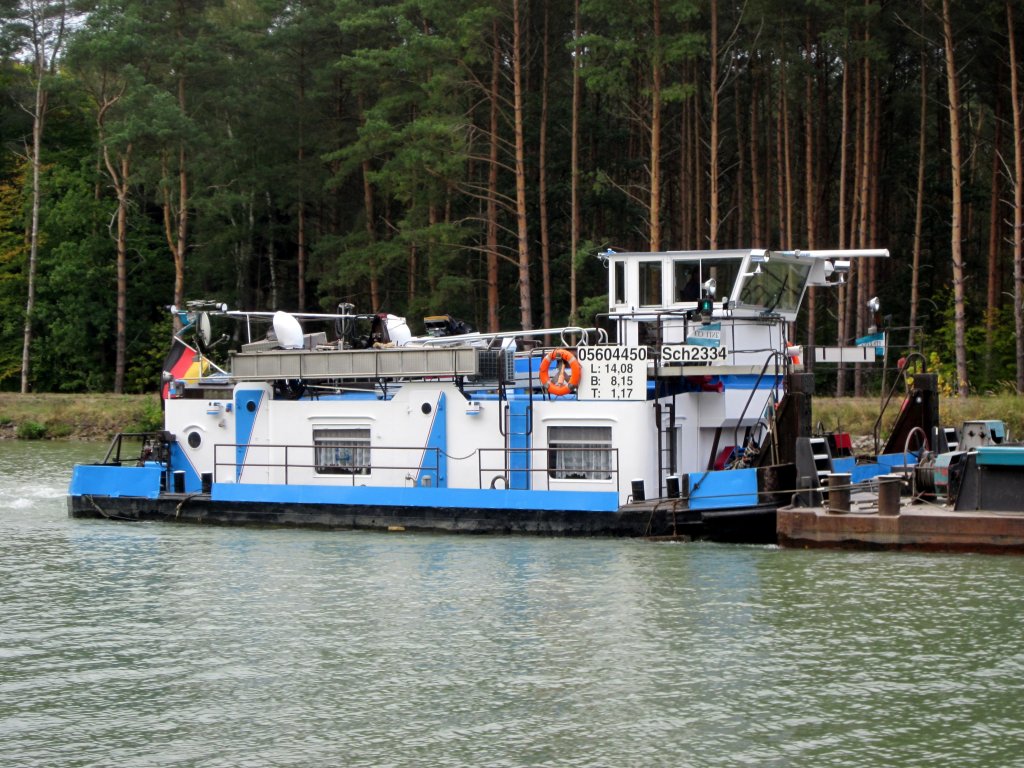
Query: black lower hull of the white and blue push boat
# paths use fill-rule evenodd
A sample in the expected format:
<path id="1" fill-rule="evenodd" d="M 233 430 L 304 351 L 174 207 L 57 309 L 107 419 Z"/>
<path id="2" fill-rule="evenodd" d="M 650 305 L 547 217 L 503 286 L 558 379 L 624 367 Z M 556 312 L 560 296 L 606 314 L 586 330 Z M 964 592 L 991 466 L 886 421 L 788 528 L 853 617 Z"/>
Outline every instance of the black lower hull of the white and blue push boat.
<path id="1" fill-rule="evenodd" d="M 696 512 L 648 502 L 627 505 L 615 512 L 572 512 L 213 502 L 205 494 L 164 494 L 157 499 L 70 496 L 68 512 L 73 518 L 86 519 L 336 530 L 623 537 L 738 544 L 776 541 L 775 507 L 767 505 Z"/>

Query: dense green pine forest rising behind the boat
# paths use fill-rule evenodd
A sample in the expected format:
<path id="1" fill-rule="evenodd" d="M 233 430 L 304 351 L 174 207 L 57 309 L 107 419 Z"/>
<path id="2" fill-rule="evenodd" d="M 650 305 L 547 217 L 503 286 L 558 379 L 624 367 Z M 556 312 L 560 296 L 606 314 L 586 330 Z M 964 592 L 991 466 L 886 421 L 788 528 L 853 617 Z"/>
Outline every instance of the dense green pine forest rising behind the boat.
<path id="1" fill-rule="evenodd" d="M 606 309 L 608 248 L 885 247 L 797 338 L 852 343 L 878 296 L 893 359 L 1020 393 L 1022 24 L 1010 0 L 0 0 L 0 389 L 154 391 L 194 298 L 548 328 Z"/>

